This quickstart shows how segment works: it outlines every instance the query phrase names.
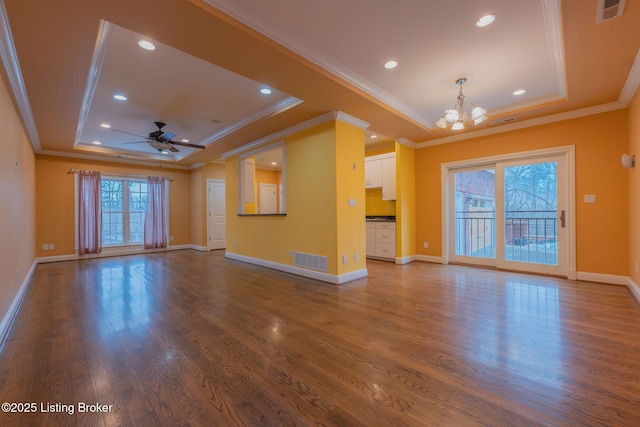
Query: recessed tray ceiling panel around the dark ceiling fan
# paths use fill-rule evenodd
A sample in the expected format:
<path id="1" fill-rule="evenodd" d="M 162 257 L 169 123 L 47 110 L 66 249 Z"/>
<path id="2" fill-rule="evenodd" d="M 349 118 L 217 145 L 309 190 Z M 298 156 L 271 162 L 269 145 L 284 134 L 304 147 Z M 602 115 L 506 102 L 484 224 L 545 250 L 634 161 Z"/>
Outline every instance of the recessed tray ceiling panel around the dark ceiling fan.
<path id="1" fill-rule="evenodd" d="M 141 48 L 141 40 L 152 42 L 155 49 Z M 173 140 L 206 147 L 234 129 L 300 102 L 106 21 L 92 69 L 95 78 L 87 83 L 82 109 L 88 113 L 80 117 L 75 147 L 95 152 L 179 160 L 198 149 L 177 146 L 179 152 L 167 153 L 145 143 L 158 129 L 154 122 L 164 122 L 162 130 L 175 134 Z M 271 93 L 265 95 L 261 89 Z M 127 100 L 118 101 L 115 94 Z"/>

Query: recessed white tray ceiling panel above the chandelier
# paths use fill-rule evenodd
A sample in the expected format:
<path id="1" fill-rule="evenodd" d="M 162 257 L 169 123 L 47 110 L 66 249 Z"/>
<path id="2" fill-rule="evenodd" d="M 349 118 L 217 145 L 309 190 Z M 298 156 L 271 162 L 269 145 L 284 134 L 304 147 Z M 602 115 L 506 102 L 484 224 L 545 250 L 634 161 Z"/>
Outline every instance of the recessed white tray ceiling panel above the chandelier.
<path id="1" fill-rule="evenodd" d="M 207 2 L 428 128 L 455 105 L 459 77 L 489 114 L 565 96 L 552 0 Z M 477 27 L 489 13 L 496 21 Z M 398 67 L 387 70 L 388 60 Z M 517 89 L 526 93 L 516 97 Z"/>

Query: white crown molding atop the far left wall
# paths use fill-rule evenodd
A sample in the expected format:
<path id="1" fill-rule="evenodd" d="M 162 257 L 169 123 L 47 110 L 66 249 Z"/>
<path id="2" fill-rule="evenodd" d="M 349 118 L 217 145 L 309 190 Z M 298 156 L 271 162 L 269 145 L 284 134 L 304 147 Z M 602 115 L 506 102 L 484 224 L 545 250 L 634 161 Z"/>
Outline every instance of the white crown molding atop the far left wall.
<path id="1" fill-rule="evenodd" d="M 31 146 L 35 151 L 40 150 L 40 136 L 38 135 L 38 129 L 36 127 L 35 119 L 33 118 L 33 112 L 31 111 L 31 105 L 29 104 L 29 97 L 27 96 L 27 89 L 24 86 L 22 80 L 22 71 L 20 70 L 20 63 L 18 62 L 18 54 L 16 53 L 15 44 L 13 43 L 13 37 L 11 35 L 11 27 L 9 26 L 9 18 L 7 16 L 7 9 L 4 6 L 4 0 L 0 0 L 0 59 L 4 64 L 7 78 L 9 79 L 9 85 L 13 91 L 13 96 L 20 110 L 20 116 L 22 123 L 24 124 L 25 131 Z"/>

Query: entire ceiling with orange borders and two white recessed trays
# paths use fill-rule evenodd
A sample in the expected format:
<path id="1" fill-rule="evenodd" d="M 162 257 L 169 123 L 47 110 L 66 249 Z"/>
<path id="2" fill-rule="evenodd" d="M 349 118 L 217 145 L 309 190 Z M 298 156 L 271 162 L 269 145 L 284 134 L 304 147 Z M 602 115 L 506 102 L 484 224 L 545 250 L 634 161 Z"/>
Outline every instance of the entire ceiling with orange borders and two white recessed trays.
<path id="1" fill-rule="evenodd" d="M 37 152 L 191 168 L 331 111 L 369 123 L 368 141 L 419 147 L 509 129 L 505 119 L 524 126 L 624 108 L 640 81 L 640 6 L 626 2 L 621 17 L 596 24 L 598 5 L 0 0 L 0 56 Z M 477 28 L 486 13 L 495 22 Z M 384 68 L 390 59 L 397 68 Z M 459 77 L 490 117 L 459 132 L 435 128 Z M 206 148 L 125 144 L 146 140 L 154 121 Z"/>

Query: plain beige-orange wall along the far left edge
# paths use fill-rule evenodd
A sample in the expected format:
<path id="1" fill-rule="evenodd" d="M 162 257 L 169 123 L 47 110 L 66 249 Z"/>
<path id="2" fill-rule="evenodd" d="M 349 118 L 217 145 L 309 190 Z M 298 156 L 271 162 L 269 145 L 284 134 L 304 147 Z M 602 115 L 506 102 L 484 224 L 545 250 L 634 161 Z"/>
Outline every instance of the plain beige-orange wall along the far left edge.
<path id="1" fill-rule="evenodd" d="M 1 78 L 0 128 L 2 129 L 0 323 L 2 323 L 36 259 L 36 184 L 33 150 L 13 106 L 7 86 Z"/>

